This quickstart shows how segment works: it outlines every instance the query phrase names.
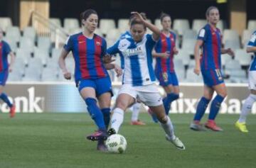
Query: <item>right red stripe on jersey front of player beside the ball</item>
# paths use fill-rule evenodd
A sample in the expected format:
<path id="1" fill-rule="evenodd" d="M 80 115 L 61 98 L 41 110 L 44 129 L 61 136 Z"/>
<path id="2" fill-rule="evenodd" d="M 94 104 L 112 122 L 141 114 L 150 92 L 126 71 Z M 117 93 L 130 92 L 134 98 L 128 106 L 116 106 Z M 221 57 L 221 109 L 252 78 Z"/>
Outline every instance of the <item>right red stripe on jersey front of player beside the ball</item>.
<path id="1" fill-rule="evenodd" d="M 102 61 L 101 61 L 101 53 L 102 53 L 102 38 L 99 36 L 95 36 L 95 67 L 96 67 L 96 72 L 98 77 L 105 77 L 106 74 L 104 72 L 103 66 L 102 66 Z"/>

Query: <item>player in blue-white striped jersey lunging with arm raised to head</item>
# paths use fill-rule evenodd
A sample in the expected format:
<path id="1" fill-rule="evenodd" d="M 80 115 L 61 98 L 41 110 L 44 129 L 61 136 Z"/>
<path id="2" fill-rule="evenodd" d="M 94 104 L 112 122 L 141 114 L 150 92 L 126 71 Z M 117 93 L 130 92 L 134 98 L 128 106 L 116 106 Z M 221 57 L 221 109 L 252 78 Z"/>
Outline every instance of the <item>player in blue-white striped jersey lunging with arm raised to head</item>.
<path id="1" fill-rule="evenodd" d="M 139 13 L 132 12 L 132 15 L 135 16 L 130 26 L 132 37 L 119 39 L 107 50 L 110 55 L 117 52 L 122 52 L 124 55 L 123 84 L 117 96 L 109 133 L 110 135 L 118 133 L 124 121 L 124 111 L 139 99 L 149 106 L 153 113 L 156 113 L 166 133 L 166 139 L 178 149 L 184 150 L 185 146 L 174 135 L 173 125 L 169 116 L 166 116 L 161 96 L 154 84 L 151 52 L 156 41 L 159 40 L 161 31 L 147 22 Z M 153 34 L 145 35 L 146 28 L 149 28 Z"/>

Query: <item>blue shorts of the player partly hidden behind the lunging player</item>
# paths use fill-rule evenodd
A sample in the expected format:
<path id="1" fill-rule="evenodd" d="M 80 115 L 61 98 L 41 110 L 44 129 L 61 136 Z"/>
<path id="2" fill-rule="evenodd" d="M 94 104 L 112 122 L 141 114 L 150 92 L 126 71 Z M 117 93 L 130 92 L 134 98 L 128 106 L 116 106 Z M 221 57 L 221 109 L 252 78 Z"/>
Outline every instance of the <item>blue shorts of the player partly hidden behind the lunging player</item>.
<path id="1" fill-rule="evenodd" d="M 178 78 L 175 72 L 161 72 L 155 71 L 156 78 L 159 80 L 161 86 L 178 86 Z"/>

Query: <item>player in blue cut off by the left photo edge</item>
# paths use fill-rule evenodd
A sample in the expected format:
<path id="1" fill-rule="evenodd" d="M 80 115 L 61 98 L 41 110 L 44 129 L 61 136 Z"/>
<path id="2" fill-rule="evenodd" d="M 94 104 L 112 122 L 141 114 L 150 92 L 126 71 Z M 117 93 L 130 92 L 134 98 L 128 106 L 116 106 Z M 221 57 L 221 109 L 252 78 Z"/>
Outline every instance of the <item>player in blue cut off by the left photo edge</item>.
<path id="1" fill-rule="evenodd" d="M 3 30 L 0 28 L 0 99 L 2 99 L 10 108 L 10 117 L 15 116 L 15 106 L 8 99 L 8 95 L 6 95 L 3 90 L 6 85 L 6 80 L 8 78 L 9 72 L 11 72 L 12 67 L 14 65 L 15 55 L 14 52 L 11 51 L 11 47 L 6 41 L 3 40 Z M 8 55 L 11 56 L 11 62 L 8 63 Z"/>

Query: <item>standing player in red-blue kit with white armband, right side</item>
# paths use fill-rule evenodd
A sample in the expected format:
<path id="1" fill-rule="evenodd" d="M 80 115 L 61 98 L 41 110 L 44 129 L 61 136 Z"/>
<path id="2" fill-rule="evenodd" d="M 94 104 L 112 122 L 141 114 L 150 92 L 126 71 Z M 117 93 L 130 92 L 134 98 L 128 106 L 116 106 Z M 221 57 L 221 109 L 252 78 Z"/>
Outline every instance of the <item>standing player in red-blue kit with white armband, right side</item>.
<path id="1" fill-rule="evenodd" d="M 216 125 L 215 117 L 218 114 L 221 103 L 225 99 L 225 96 L 227 96 L 227 89 L 220 70 L 220 55 L 227 53 L 234 57 L 234 52 L 230 48 L 224 49 L 221 46 L 222 37 L 220 29 L 216 27 L 220 20 L 218 8 L 210 6 L 206 11 L 206 18 L 208 24 L 200 30 L 195 46 L 196 67 L 194 69 L 196 74 L 199 75 L 201 72 L 203 75 L 203 97 L 198 103 L 196 115 L 193 118 L 193 123 L 191 123 L 190 128 L 192 130 L 204 130 L 200 121 L 206 111 L 208 103 L 213 98 L 214 91 L 216 91 L 217 96 L 215 96 L 211 103 L 210 114 L 205 126 L 211 130 L 220 131 L 223 129 Z M 203 50 L 202 57 L 200 57 L 200 48 Z"/>

